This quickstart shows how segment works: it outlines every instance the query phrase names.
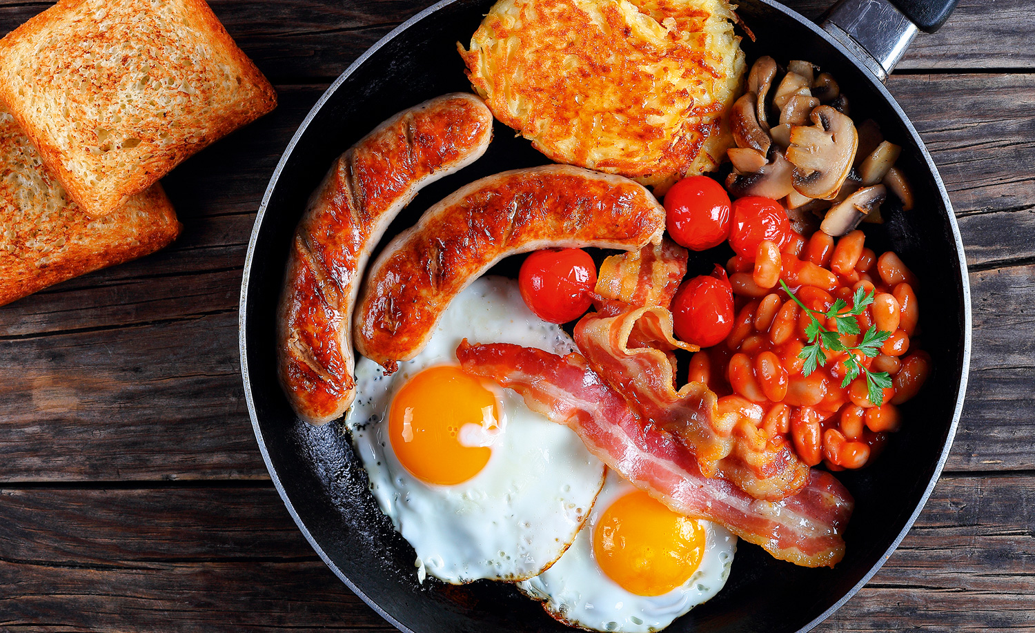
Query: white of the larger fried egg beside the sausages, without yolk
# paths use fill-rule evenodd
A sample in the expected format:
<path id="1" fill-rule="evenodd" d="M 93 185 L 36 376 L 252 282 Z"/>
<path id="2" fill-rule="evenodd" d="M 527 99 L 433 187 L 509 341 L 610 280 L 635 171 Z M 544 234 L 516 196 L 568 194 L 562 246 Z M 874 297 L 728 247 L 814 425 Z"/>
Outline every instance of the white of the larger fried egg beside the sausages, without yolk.
<path id="1" fill-rule="evenodd" d="M 360 358 L 346 425 L 381 510 L 416 550 L 421 580 L 425 572 L 451 583 L 530 578 L 574 540 L 605 469 L 572 431 L 530 411 L 513 392 L 484 382 L 497 398 L 499 429 L 466 425 L 461 438 L 492 447 L 485 467 L 452 486 L 410 474 L 388 439 L 392 398 L 418 372 L 456 365 L 465 338 L 560 354 L 574 349 L 563 329 L 532 314 L 516 282 L 481 278 L 450 303 L 427 347 L 394 374 L 384 376 L 376 363 Z"/>

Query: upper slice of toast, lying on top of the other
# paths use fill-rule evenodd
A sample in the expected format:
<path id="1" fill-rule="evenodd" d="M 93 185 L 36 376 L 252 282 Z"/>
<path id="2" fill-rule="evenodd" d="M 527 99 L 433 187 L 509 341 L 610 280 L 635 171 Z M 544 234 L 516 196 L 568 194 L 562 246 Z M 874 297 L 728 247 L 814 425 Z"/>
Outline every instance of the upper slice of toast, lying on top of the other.
<path id="1" fill-rule="evenodd" d="M 276 93 L 204 0 L 61 0 L 0 40 L 0 100 L 96 217 Z"/>

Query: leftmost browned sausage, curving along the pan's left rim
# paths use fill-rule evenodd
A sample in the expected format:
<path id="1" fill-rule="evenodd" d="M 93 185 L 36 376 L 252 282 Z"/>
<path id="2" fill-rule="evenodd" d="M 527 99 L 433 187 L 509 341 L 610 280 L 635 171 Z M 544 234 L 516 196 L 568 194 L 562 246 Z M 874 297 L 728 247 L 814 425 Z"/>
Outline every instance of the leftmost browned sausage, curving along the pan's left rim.
<path id="1" fill-rule="evenodd" d="M 280 295 L 277 366 L 300 418 L 324 424 L 352 404 L 352 309 L 371 249 L 417 194 L 485 152 L 493 115 L 473 94 L 404 110 L 341 155 L 295 230 Z"/>

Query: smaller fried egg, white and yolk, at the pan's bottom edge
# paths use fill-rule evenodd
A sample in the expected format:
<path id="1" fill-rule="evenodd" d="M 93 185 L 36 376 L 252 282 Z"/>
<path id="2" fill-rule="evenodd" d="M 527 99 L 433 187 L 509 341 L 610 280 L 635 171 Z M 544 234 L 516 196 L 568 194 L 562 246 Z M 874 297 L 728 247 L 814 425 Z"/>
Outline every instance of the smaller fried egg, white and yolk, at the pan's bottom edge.
<path id="1" fill-rule="evenodd" d="M 722 588 L 736 551 L 721 525 L 679 515 L 609 471 L 571 547 L 518 588 L 568 625 L 659 631 Z"/>

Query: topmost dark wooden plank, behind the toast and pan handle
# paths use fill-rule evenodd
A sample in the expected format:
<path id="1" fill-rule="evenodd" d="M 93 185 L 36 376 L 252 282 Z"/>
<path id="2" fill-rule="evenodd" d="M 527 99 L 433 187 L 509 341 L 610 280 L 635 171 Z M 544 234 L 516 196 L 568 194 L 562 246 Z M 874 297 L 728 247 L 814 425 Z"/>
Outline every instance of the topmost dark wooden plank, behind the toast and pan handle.
<path id="1" fill-rule="evenodd" d="M 0 33 L 6 33 L 50 2 L 0 2 Z M 326 80 L 392 28 L 432 4 L 428 0 L 284 0 L 275 3 L 212 0 L 212 10 L 238 45 L 274 82 Z M 833 2 L 787 0 L 810 19 Z M 1032 68 L 1028 34 L 1035 12 L 1025 0 L 963 0 L 945 27 L 914 40 L 899 68 L 909 70 Z"/>

